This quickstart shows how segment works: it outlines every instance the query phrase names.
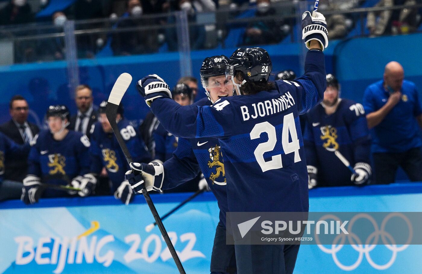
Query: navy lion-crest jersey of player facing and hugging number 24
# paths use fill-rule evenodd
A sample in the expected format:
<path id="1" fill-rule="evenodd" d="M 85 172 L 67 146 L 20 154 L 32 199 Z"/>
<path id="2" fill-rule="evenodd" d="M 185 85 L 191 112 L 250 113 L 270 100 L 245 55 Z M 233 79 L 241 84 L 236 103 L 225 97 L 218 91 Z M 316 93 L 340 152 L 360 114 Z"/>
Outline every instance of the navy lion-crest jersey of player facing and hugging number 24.
<path id="1" fill-rule="evenodd" d="M 210 106 L 211 101 L 203 98 L 196 106 Z M 214 193 L 220 209 L 220 222 L 226 223 L 227 189 L 225 167 L 217 138 L 179 138 L 179 145 L 173 157 L 165 161 L 162 189 L 169 189 L 194 179 L 202 171 L 208 186 Z M 156 186 L 159 187 L 159 186 Z"/>

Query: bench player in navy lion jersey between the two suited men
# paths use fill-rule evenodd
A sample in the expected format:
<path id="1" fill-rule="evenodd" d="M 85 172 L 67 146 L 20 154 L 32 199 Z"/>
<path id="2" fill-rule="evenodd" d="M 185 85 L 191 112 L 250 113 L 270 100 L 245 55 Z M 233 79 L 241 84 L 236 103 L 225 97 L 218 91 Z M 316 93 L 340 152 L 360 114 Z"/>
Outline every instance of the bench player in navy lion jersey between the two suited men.
<path id="1" fill-rule="evenodd" d="M 79 196 L 95 189 L 97 180 L 89 174 L 89 140 L 80 132 L 68 130 L 69 110 L 64 105 L 50 106 L 46 119 L 49 129 L 35 138 L 28 157 L 28 175 L 24 179 L 21 200 L 26 204 L 41 197 L 75 195 L 70 191 L 43 189 L 40 183 L 71 185 L 80 188 Z"/>

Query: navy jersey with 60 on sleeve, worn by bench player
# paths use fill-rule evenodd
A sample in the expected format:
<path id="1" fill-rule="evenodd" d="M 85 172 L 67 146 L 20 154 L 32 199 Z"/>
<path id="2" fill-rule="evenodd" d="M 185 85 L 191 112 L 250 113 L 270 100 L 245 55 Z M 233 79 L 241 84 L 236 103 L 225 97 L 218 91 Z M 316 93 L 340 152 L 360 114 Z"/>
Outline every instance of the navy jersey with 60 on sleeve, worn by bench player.
<path id="1" fill-rule="evenodd" d="M 127 149 L 130 151 L 132 160 L 136 163 L 149 163 L 151 157 L 146 151 L 138 131 L 127 119 L 121 119 L 117 123 L 117 127 L 122 134 Z M 111 191 L 114 193 L 124 181 L 124 174 L 130 170 L 130 167 L 119 146 L 119 142 L 117 142 L 116 136 L 112 132 L 104 132 L 100 122 L 94 124 L 89 151 L 92 157 L 90 172 L 100 174 L 103 167 L 106 167 L 108 177 L 112 183 Z"/>

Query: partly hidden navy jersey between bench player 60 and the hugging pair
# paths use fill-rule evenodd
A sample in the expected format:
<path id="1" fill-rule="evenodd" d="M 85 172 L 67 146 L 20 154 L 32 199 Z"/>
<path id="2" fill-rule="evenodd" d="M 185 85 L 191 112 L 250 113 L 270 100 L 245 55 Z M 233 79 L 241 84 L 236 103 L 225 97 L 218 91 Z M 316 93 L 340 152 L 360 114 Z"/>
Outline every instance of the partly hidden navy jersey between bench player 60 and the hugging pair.
<path id="1" fill-rule="evenodd" d="M 155 144 L 155 159 L 162 162 L 170 159 L 177 148 L 178 138 L 165 130 L 162 125 L 158 125 L 152 134 Z"/>

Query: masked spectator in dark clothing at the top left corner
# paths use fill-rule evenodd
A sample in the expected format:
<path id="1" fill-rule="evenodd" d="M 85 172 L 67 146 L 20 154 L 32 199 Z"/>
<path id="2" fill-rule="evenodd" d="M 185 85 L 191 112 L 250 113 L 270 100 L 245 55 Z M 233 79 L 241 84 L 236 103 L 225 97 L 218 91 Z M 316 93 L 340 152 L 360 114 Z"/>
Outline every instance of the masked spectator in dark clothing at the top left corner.
<path id="1" fill-rule="evenodd" d="M 32 22 L 34 19 L 31 6 L 26 0 L 10 0 L 0 10 L 0 24 L 23 24 Z"/>

